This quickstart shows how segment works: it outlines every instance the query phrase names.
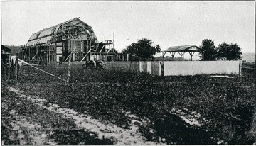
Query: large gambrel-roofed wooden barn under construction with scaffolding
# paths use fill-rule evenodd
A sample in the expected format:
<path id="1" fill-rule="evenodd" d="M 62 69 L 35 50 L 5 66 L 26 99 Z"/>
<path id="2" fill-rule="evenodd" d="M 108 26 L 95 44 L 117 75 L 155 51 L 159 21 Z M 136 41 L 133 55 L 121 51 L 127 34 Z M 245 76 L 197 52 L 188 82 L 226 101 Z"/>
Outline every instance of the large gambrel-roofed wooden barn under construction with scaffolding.
<path id="1" fill-rule="evenodd" d="M 33 33 L 19 55 L 36 64 L 60 64 L 69 57 L 72 62 L 82 62 L 126 60 L 126 56 L 114 50 L 114 38 L 99 43 L 92 27 L 80 18 Z"/>

